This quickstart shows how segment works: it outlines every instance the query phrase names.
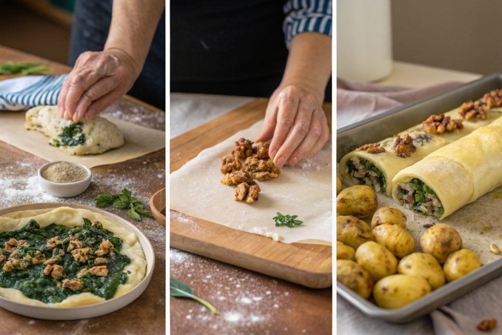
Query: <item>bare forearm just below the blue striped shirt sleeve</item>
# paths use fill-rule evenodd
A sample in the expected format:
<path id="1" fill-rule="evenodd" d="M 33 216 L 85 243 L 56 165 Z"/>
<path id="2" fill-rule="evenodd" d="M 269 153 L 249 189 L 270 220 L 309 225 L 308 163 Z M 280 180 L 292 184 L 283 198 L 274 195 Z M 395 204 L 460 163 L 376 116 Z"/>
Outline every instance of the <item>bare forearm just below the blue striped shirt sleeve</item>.
<path id="1" fill-rule="evenodd" d="M 322 103 L 330 76 L 331 37 L 310 32 L 295 35 L 281 86 L 299 84 Z"/>

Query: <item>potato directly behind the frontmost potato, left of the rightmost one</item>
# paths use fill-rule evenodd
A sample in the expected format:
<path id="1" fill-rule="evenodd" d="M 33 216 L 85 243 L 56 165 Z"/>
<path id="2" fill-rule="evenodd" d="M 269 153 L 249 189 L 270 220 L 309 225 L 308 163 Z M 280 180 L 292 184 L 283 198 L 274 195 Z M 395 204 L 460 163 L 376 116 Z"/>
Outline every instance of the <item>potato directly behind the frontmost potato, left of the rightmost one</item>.
<path id="1" fill-rule="evenodd" d="M 446 282 L 438 260 L 429 254 L 413 253 L 403 257 L 399 261 L 398 272 L 404 275 L 424 277 L 433 290 L 443 286 Z"/>

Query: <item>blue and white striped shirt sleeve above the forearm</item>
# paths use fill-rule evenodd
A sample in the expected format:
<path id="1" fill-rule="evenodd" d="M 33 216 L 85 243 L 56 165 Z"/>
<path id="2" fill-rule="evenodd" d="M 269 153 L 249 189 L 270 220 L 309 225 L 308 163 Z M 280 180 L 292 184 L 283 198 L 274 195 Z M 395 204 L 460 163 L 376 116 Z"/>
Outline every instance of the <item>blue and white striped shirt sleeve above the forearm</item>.
<path id="1" fill-rule="evenodd" d="M 332 35 L 332 0 L 288 0 L 283 8 L 286 46 L 290 47 L 293 36 L 303 32 Z"/>

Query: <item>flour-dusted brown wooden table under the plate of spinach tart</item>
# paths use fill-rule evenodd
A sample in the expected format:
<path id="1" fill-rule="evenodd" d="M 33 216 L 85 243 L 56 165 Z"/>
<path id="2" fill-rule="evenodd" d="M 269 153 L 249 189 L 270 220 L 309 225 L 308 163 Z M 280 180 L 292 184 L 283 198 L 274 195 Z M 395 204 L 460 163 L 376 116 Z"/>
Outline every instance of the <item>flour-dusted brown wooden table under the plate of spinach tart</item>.
<path id="1" fill-rule="evenodd" d="M 43 62 L 54 70 L 51 74 L 68 73 L 71 68 L 26 53 L 0 46 L 0 62 Z M 0 80 L 10 76 L 0 76 Z M 165 115 L 159 109 L 132 97 L 124 97 L 110 108 L 124 119 L 133 114 L 146 127 L 165 130 Z M 22 113 L 22 112 L 21 112 Z M 158 114 L 162 113 L 162 114 Z M 120 116 L 118 116 L 120 118 Z M 0 122 L 2 114 L 0 112 Z M 158 121 L 161 120 L 161 121 Z M 164 121 L 162 121 L 164 120 Z M 0 141 L 0 208 L 30 202 L 73 202 L 94 205 L 94 197 L 103 193 L 117 193 L 123 187 L 133 191 L 133 197 L 143 201 L 149 210 L 149 199 L 165 187 L 165 150 L 126 162 L 92 168 L 93 181 L 84 193 L 64 199 L 49 196 L 37 189 L 37 169 L 45 164 L 41 158 Z M 34 179 L 35 177 L 35 179 Z M 155 270 L 146 291 L 130 305 L 113 313 L 76 321 L 49 321 L 32 319 L 0 308 L 0 333 L 5 334 L 164 334 L 166 327 L 166 230 L 157 221 L 144 218 L 137 222 L 127 211 L 106 208 L 133 222 L 152 242 L 156 255 Z"/>

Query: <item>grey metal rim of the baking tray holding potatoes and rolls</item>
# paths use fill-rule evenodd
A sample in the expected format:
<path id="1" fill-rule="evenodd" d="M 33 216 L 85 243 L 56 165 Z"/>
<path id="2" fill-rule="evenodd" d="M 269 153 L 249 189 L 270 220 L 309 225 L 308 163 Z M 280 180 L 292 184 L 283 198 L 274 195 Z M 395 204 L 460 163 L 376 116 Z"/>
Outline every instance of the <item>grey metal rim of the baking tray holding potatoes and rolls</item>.
<path id="1" fill-rule="evenodd" d="M 413 127 L 426 120 L 431 114 L 445 113 L 465 101 L 476 100 L 484 93 L 500 88 L 502 88 L 502 73 L 496 72 L 343 127 L 336 132 L 336 161 L 339 162 L 344 155 L 364 144 L 381 141 Z M 502 258 L 483 265 L 479 269 L 397 309 L 378 307 L 338 281 L 336 292 L 370 317 L 401 323 L 423 316 L 499 275 L 502 275 Z"/>

